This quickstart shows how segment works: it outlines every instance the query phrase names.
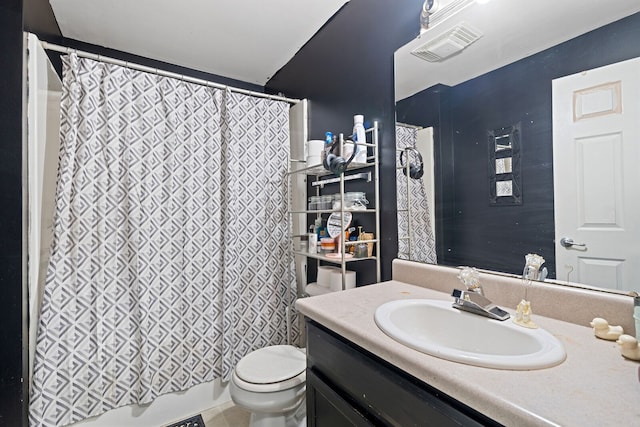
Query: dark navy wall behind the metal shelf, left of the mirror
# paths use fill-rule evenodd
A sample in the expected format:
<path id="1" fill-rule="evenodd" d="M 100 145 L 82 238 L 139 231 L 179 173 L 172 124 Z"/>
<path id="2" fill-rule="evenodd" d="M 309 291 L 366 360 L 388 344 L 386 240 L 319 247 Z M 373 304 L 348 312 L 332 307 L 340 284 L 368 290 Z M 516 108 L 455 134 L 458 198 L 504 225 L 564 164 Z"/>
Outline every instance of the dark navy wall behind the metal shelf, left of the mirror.
<path id="1" fill-rule="evenodd" d="M 325 131 L 350 134 L 354 114 L 380 122 L 383 279 L 391 278 L 398 252 L 396 185 L 389 179 L 395 177 L 396 154 L 393 53 L 418 34 L 422 3 L 351 0 L 266 85 L 311 100 L 311 139 L 324 139 Z M 367 261 L 349 268 L 358 272 L 359 283 L 371 283 L 372 266 Z"/>

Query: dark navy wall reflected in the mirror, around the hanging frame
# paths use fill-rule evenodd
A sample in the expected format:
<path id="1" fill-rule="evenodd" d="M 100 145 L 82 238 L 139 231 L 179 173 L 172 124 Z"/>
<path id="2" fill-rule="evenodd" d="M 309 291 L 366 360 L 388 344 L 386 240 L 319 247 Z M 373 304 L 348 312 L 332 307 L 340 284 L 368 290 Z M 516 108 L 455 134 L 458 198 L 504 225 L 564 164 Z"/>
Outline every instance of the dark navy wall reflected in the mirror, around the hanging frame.
<path id="1" fill-rule="evenodd" d="M 536 252 L 555 277 L 551 80 L 640 56 L 640 14 L 452 88 L 398 103 L 398 120 L 434 125 L 442 156 L 438 261 L 522 273 Z M 522 125 L 521 206 L 489 206 L 487 131 Z"/>

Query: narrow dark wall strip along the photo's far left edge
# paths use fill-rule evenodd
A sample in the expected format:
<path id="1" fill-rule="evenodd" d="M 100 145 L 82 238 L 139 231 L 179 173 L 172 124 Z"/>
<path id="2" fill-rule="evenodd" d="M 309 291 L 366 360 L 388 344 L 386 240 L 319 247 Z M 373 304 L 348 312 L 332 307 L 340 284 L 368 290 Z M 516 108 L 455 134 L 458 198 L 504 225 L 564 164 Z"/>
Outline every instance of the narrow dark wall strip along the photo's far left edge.
<path id="1" fill-rule="evenodd" d="M 0 426 L 26 425 L 22 382 L 22 1 L 0 2 Z M 26 336 L 26 335 L 24 335 Z"/>

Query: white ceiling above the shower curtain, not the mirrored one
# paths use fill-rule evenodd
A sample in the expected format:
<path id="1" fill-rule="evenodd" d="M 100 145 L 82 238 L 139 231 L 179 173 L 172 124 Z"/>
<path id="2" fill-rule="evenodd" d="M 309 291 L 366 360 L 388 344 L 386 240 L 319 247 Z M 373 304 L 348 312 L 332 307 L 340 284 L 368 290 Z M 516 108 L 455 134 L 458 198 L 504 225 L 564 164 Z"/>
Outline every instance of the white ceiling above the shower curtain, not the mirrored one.
<path id="1" fill-rule="evenodd" d="M 348 0 L 50 0 L 62 35 L 263 86 Z"/>

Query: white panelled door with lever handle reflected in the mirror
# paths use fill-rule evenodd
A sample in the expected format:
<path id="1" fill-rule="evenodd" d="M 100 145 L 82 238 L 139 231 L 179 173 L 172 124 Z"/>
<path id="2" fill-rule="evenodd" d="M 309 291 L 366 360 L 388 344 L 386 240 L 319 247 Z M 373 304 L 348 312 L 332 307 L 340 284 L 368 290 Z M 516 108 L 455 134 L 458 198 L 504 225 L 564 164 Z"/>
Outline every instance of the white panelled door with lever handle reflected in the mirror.
<path id="1" fill-rule="evenodd" d="M 640 58 L 553 81 L 559 280 L 640 290 L 639 121 Z"/>

